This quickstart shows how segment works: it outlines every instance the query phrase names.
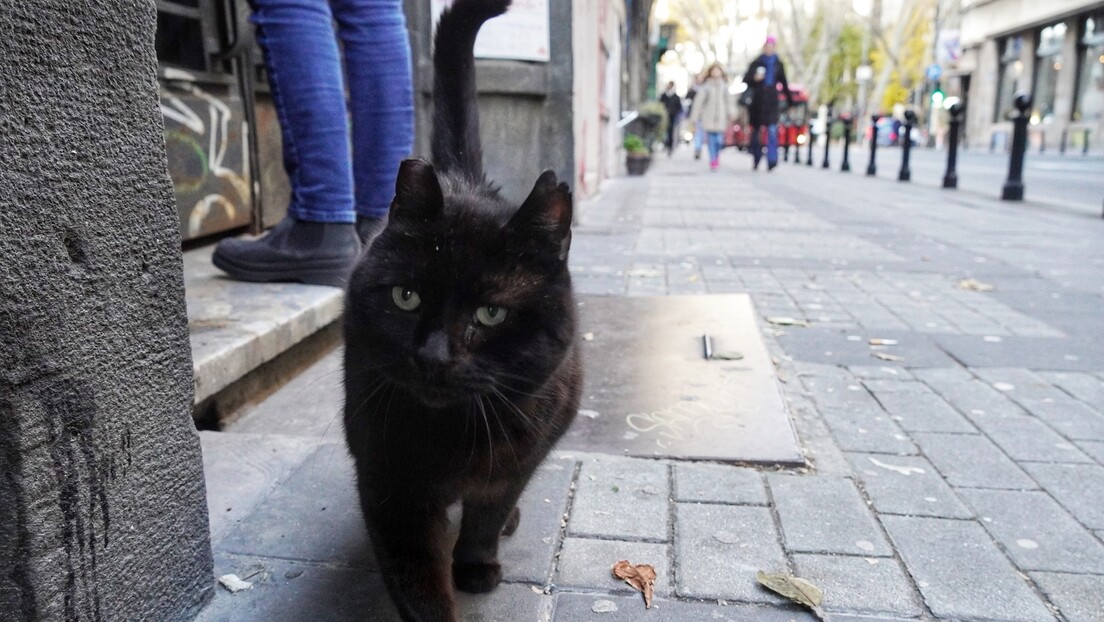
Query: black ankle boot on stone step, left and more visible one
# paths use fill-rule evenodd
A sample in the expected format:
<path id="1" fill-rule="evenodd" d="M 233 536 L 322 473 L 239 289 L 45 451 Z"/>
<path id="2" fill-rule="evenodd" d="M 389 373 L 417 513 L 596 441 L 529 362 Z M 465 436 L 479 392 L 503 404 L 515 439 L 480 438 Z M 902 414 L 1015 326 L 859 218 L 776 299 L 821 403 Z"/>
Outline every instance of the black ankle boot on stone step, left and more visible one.
<path id="1" fill-rule="evenodd" d="M 343 287 L 359 254 L 360 238 L 353 223 L 285 217 L 264 238 L 220 241 L 211 260 L 238 281 Z"/>

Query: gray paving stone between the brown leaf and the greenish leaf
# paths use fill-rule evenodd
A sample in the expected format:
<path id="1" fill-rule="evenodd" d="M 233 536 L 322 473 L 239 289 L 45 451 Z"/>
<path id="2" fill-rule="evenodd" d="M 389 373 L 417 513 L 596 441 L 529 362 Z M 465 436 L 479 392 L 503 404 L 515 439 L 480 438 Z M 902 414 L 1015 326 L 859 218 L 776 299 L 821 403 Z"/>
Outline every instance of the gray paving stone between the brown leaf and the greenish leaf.
<path id="1" fill-rule="evenodd" d="M 678 504 L 677 593 L 702 599 L 779 603 L 755 572 L 786 568 L 778 530 L 765 507 Z"/>

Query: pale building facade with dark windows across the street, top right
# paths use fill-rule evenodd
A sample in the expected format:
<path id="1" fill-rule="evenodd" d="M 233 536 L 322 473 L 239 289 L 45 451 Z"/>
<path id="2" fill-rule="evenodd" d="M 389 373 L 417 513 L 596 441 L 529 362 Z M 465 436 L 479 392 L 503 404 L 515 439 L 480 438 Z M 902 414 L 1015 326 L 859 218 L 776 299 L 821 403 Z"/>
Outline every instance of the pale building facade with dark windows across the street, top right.
<path id="1" fill-rule="evenodd" d="M 1027 93 L 1031 149 L 1104 151 L 1104 2 L 964 0 L 962 11 L 969 146 L 1007 148 Z"/>

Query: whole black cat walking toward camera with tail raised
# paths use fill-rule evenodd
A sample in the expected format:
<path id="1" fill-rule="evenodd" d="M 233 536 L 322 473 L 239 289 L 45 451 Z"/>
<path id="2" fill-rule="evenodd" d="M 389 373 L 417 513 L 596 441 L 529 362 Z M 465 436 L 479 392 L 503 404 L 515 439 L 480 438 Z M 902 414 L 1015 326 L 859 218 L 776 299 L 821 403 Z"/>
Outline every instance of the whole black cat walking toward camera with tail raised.
<path id="1" fill-rule="evenodd" d="M 545 171 L 519 208 L 482 173 L 473 45 L 509 0 L 437 27 L 433 159 L 403 161 L 346 304 L 344 426 L 361 506 L 404 620 L 457 620 L 495 589 L 498 540 L 578 410 L 572 199 Z M 447 550 L 446 509 L 463 502 Z"/>

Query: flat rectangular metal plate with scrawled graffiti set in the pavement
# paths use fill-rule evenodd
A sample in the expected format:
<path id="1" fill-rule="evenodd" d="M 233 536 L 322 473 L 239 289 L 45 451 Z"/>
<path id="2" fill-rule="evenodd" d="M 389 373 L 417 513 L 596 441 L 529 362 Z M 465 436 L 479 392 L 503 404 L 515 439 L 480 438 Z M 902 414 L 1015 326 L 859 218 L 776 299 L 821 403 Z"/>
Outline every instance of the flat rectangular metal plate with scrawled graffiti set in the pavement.
<path id="1" fill-rule="evenodd" d="M 804 464 L 747 295 L 580 303 L 586 384 L 559 449 Z"/>

